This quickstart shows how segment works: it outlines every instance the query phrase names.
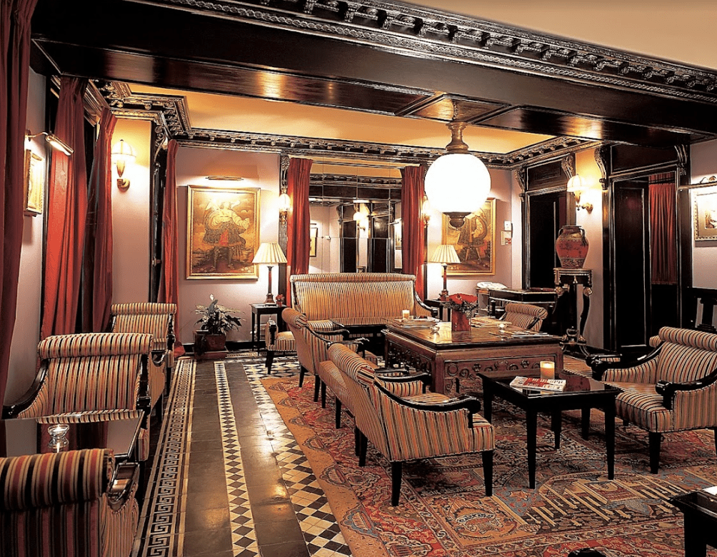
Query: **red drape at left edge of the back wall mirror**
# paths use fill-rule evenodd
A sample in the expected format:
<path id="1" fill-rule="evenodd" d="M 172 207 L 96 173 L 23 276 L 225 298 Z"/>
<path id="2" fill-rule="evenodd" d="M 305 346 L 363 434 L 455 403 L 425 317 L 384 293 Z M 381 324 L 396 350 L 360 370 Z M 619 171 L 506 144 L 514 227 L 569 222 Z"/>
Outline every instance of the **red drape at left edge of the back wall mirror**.
<path id="1" fill-rule="evenodd" d="M 291 199 L 292 210 L 288 217 L 286 244 L 286 299 L 291 300 L 291 275 L 301 275 L 309 271 L 309 181 L 311 177 L 310 158 L 292 158 L 287 171 L 287 191 Z"/>

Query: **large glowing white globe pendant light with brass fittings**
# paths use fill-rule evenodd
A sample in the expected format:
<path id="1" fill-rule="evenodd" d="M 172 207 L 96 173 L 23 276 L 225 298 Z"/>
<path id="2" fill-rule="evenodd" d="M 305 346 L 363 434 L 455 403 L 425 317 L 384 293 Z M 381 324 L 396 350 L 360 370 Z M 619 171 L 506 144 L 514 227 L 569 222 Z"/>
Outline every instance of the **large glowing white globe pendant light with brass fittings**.
<path id="1" fill-rule="evenodd" d="M 425 191 L 431 206 L 446 214 L 452 227 L 460 228 L 465 217 L 478 211 L 490 193 L 490 173 L 480 158 L 468 153 L 463 142 L 465 122 L 452 121 L 447 154 L 429 166 Z"/>

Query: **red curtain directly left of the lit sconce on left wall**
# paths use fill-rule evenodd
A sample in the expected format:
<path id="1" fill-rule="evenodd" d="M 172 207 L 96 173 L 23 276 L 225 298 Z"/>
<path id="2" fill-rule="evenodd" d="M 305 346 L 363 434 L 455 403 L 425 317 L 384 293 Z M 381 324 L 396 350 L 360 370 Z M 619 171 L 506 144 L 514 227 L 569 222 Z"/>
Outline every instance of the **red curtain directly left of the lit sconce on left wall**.
<path id="1" fill-rule="evenodd" d="M 108 108 L 100 117 L 100 135 L 90 171 L 82 260 L 82 330 L 100 332 L 110 323 L 112 307 L 112 134 L 117 118 Z"/>

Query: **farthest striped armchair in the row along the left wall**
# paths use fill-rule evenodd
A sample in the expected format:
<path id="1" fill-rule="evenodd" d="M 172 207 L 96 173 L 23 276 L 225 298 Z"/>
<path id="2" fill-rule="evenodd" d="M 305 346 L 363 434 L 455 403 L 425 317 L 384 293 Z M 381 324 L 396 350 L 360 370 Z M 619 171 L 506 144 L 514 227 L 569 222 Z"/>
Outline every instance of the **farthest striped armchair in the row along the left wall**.
<path id="1" fill-rule="evenodd" d="M 174 368 L 174 316 L 176 304 L 130 303 L 113 304 L 110 310 L 110 333 L 149 333 L 152 335 L 152 350 L 165 353 L 163 378 L 168 390 L 171 370 Z M 159 376 L 150 379 L 152 405 L 165 389 L 158 390 Z"/>

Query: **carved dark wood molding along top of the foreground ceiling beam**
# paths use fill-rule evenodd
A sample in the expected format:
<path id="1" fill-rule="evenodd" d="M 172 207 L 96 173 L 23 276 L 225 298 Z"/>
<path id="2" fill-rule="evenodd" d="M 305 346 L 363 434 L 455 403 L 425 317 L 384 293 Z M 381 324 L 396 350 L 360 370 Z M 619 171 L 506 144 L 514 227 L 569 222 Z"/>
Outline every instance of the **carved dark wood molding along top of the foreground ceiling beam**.
<path id="1" fill-rule="evenodd" d="M 384 0 L 129 0 L 390 52 L 717 103 L 717 72 Z"/>

